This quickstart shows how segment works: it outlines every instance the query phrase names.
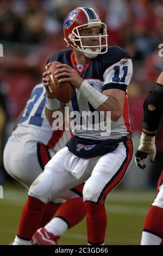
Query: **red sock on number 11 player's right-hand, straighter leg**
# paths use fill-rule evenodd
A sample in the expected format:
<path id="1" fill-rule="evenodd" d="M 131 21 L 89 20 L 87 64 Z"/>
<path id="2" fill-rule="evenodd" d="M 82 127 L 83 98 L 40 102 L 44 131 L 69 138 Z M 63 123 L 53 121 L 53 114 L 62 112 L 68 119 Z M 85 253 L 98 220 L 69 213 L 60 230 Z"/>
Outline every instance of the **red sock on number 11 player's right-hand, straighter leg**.
<path id="1" fill-rule="evenodd" d="M 107 225 L 105 206 L 91 201 L 85 202 L 87 212 L 87 240 L 88 243 L 102 244 L 104 243 L 105 231 Z"/>

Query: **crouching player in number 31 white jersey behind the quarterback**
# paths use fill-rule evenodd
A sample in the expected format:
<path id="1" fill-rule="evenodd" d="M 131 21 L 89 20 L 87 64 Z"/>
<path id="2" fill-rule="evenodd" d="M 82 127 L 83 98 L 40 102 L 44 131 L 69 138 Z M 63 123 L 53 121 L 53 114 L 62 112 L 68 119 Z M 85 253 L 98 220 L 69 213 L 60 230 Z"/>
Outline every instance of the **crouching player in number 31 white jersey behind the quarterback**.
<path id="1" fill-rule="evenodd" d="M 5 169 L 12 178 L 28 189 L 37 176 L 43 172 L 47 162 L 57 151 L 64 148 L 72 137 L 69 130 L 54 131 L 49 126 L 45 117 L 45 94 L 46 90 L 43 83 L 34 87 L 26 108 L 20 114 L 17 127 L 9 137 L 4 149 Z M 50 234 L 53 240 L 49 239 L 47 241 L 48 231 L 41 229 L 43 232 L 41 245 L 56 244 L 62 233 L 82 220 L 86 214 L 82 191 L 83 184 L 60 194 L 57 198 L 52 198 L 51 202 L 46 204 L 41 222 L 37 228 L 44 227 L 51 221 L 57 210 L 58 215 L 48 223 L 48 227 L 51 227 L 55 232 L 55 236 Z M 76 212 L 78 210 L 80 212 L 77 216 Z M 27 227 L 24 234 L 30 237 L 30 228 Z"/>

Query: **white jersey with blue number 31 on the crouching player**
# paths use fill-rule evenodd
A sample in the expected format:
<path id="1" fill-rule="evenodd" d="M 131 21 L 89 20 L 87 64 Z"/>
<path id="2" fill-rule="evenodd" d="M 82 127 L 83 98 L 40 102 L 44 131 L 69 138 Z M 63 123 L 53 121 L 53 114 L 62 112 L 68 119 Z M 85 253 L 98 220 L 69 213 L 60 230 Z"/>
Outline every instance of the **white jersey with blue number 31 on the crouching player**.
<path id="1" fill-rule="evenodd" d="M 37 84 L 18 121 L 18 127 L 12 132 L 12 139 L 20 143 L 34 141 L 43 143 L 55 152 L 65 147 L 71 138 L 70 131 L 54 131 L 45 116 L 46 90 L 43 83 Z"/>

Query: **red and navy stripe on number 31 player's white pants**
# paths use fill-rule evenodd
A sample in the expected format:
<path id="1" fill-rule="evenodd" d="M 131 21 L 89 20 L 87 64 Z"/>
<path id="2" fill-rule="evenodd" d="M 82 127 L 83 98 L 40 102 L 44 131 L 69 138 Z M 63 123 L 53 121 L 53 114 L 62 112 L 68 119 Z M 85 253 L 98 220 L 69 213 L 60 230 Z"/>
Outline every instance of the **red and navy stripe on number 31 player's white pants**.
<path id="1" fill-rule="evenodd" d="M 48 147 L 42 143 L 37 143 L 37 157 L 40 163 L 42 170 L 46 166 L 49 160 L 51 160 L 51 156 L 48 152 Z"/>

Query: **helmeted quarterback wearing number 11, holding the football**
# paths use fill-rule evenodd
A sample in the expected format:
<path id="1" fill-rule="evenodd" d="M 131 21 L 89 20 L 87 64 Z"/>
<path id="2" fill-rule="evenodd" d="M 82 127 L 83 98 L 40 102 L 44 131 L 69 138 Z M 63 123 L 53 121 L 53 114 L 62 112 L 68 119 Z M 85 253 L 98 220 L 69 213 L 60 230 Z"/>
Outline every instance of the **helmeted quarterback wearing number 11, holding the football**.
<path id="1" fill-rule="evenodd" d="M 36 198 L 42 209 L 51 197 L 86 180 L 83 199 L 87 211 L 89 245 L 104 243 L 105 198 L 121 182 L 133 160 L 127 100 L 127 86 L 133 73 L 132 62 L 122 48 L 108 47 L 106 31 L 105 23 L 92 8 L 76 8 L 65 18 L 65 40 L 72 49 L 57 52 L 48 60 L 48 65 L 54 60 L 61 63 L 55 77 L 59 78 L 59 82 L 71 82 L 74 94 L 66 106 L 70 112 L 80 113 L 81 118 L 77 120 L 74 117 L 72 126 L 75 136 L 48 162 L 44 172 L 30 187 L 27 200 L 28 208 L 34 212 Z M 45 72 L 42 81 L 46 87 L 46 116 L 53 126 L 53 112 L 58 110 L 64 113 L 65 108 L 48 89 L 49 78 L 46 76 L 49 74 L 50 71 Z M 92 130 L 82 111 L 89 112 Z M 105 129 L 109 111 L 111 127 L 108 125 Z M 93 112 L 96 112 L 96 118 L 93 118 Z M 99 120 L 101 126 L 98 129 Z M 55 166 L 57 169 L 54 170 Z M 28 225 L 28 216 L 28 212 L 24 214 L 23 211 L 20 234 Z M 35 214 L 32 220 L 39 222 Z M 35 231 L 34 225 L 31 228 Z M 37 239 L 37 233 L 33 240 Z"/>

